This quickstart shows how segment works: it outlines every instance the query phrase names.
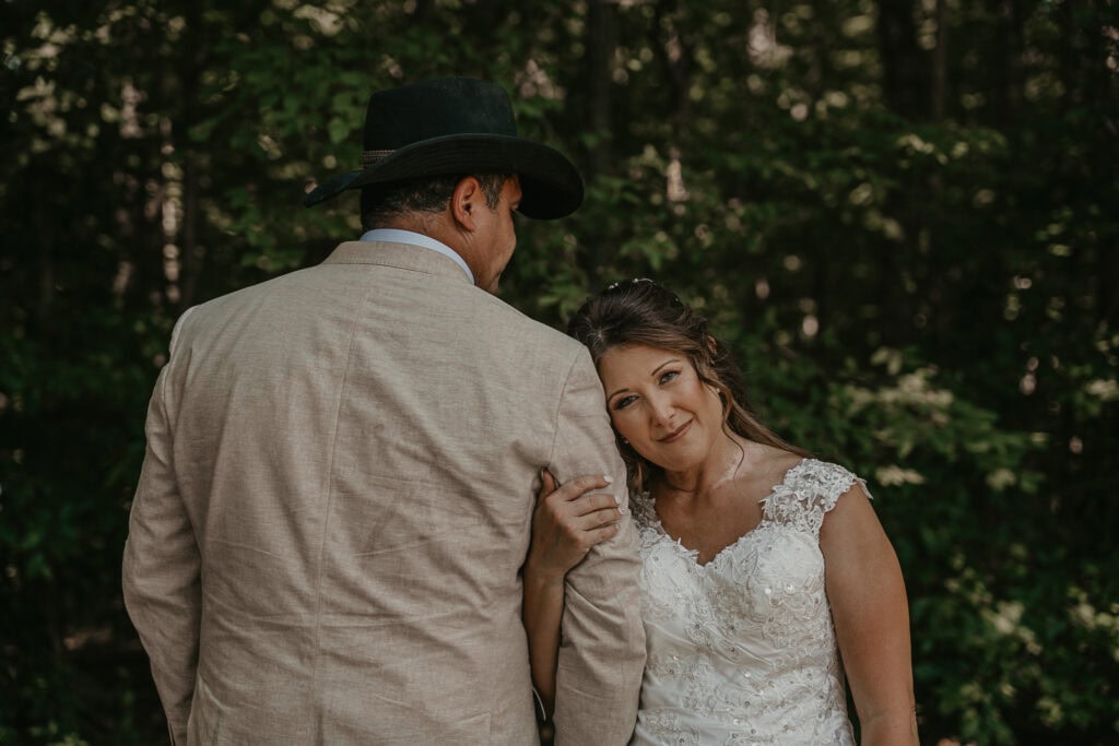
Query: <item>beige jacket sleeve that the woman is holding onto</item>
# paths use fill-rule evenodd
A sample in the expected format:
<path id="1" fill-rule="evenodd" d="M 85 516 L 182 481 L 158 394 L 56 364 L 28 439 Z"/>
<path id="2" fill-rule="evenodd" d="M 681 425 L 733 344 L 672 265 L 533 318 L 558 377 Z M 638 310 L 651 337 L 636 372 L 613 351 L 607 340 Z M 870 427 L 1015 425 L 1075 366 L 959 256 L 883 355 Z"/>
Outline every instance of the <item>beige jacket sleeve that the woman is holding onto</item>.
<path id="1" fill-rule="evenodd" d="M 552 472 L 613 476 L 628 504 L 626 466 L 618 455 L 602 384 L 585 349 L 560 405 Z M 630 514 L 621 531 L 596 545 L 567 574 L 556 670 L 556 746 L 626 744 L 637 719 L 645 670 L 637 532 Z"/>

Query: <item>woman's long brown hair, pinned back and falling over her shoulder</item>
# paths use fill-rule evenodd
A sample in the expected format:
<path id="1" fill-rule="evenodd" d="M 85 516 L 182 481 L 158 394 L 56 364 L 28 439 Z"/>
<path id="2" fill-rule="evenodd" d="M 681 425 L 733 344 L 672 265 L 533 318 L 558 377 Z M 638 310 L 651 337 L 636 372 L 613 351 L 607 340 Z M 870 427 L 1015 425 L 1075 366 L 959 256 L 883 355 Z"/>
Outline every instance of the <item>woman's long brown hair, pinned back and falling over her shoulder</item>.
<path id="1" fill-rule="evenodd" d="M 586 346 L 598 368 L 615 347 L 647 344 L 684 355 L 704 384 L 723 402 L 723 427 L 755 443 L 798 455 L 805 451 L 786 443 L 753 414 L 742 371 L 726 348 L 707 330 L 707 320 L 674 293 L 651 280 L 615 282 L 575 312 L 567 333 Z M 630 474 L 630 489 L 648 490 L 659 468 L 643 459 L 615 432 L 618 450 Z"/>

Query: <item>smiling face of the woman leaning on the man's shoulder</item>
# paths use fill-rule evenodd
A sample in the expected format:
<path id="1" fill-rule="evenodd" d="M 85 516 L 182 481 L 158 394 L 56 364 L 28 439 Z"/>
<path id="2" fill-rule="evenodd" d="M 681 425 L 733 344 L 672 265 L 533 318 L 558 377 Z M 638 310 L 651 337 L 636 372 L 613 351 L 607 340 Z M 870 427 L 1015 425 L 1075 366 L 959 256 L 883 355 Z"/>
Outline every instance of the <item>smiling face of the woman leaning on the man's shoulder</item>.
<path id="1" fill-rule="evenodd" d="M 688 357 L 647 344 L 609 349 L 599 360 L 606 410 L 645 459 L 666 471 L 702 466 L 723 436 L 723 405 Z"/>

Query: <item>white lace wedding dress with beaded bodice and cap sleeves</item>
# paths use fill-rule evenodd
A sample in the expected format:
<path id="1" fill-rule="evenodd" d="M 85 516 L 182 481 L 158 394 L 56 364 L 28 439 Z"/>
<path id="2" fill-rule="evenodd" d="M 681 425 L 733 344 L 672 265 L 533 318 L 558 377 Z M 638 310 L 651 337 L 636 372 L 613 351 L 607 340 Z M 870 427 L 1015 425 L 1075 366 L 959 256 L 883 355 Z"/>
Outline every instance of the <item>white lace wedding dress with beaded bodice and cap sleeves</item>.
<path id="1" fill-rule="evenodd" d="M 819 531 L 856 482 L 801 461 L 761 523 L 705 565 L 665 533 L 648 495 L 630 501 L 649 651 L 631 744 L 855 743 Z"/>

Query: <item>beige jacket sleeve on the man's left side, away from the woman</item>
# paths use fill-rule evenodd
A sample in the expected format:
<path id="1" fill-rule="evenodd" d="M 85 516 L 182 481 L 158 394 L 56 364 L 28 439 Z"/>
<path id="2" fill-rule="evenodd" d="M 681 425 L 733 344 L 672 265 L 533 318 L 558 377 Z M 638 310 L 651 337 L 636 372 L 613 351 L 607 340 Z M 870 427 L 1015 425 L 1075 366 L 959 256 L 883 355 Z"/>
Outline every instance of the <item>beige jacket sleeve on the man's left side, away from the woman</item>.
<path id="1" fill-rule="evenodd" d="M 171 337 L 170 361 L 160 371 L 148 406 L 148 444 L 122 564 L 124 605 L 151 660 L 172 744 L 187 743 L 201 618 L 201 560 L 176 483 L 172 455 L 169 378 L 181 324 L 182 319 Z"/>

